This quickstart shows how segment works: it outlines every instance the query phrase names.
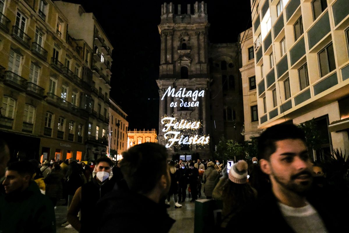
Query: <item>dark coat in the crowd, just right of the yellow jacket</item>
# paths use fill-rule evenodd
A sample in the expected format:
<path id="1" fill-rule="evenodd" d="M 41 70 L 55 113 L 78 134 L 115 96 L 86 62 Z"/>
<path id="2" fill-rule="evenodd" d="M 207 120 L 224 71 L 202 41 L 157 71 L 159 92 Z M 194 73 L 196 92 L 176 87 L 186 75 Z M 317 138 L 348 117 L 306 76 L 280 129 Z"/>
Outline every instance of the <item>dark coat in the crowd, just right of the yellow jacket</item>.
<path id="1" fill-rule="evenodd" d="M 63 196 L 63 178 L 61 170 L 53 169 L 52 172 L 44 179 L 46 184 L 45 195 L 61 199 Z"/>

